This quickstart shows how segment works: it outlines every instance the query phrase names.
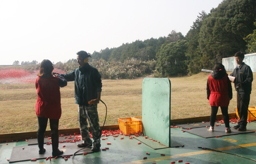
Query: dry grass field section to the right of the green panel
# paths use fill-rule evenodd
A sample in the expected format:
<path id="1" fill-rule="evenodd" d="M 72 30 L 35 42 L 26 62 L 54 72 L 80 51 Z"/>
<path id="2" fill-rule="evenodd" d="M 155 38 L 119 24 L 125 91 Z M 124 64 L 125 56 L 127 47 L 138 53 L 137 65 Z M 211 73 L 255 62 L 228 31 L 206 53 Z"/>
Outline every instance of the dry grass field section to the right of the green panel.
<path id="1" fill-rule="evenodd" d="M 231 72 L 227 72 L 230 74 Z M 170 78 L 171 81 L 171 119 L 198 117 L 211 114 L 211 107 L 206 98 L 206 83 L 209 73 L 201 72 L 191 77 Z M 254 73 L 256 77 L 256 73 Z M 233 99 L 228 112 L 236 108 L 236 91 L 232 83 Z M 256 106 L 256 82 L 253 81 L 250 106 Z M 219 109 L 218 114 L 221 114 Z"/>

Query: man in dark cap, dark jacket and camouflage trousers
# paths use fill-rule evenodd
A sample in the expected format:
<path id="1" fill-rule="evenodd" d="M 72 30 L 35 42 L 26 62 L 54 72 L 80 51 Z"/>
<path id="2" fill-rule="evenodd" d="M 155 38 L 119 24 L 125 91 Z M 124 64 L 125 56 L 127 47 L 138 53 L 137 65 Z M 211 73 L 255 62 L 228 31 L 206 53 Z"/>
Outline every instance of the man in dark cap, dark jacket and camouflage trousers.
<path id="1" fill-rule="evenodd" d="M 100 126 L 97 112 L 97 104 L 101 95 L 101 76 L 96 68 L 89 65 L 88 61 L 91 55 L 85 51 L 77 53 L 77 62 L 79 68 L 74 71 L 62 74 L 67 82 L 75 81 L 75 103 L 78 104 L 78 121 L 83 143 L 78 147 L 92 146 L 92 139 L 89 134 L 89 120 L 91 131 L 93 134 L 94 145 L 92 151 L 100 150 Z M 89 104 L 90 101 L 90 104 Z"/>

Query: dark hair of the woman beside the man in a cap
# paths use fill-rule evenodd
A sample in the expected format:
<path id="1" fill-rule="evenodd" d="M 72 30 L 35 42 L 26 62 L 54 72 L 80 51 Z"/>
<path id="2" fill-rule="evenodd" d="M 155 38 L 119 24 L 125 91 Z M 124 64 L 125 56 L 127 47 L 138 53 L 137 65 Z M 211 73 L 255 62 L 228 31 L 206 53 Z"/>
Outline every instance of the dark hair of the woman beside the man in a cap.
<path id="1" fill-rule="evenodd" d="M 37 76 L 49 77 L 52 75 L 53 69 L 53 63 L 50 60 L 44 59 L 40 63 L 39 73 Z"/>

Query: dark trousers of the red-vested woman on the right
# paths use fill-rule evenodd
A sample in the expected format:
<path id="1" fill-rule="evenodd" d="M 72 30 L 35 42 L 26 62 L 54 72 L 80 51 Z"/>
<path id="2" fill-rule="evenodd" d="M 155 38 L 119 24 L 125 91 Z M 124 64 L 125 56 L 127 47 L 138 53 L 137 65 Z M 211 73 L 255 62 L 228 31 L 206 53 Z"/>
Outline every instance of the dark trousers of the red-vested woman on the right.
<path id="1" fill-rule="evenodd" d="M 218 113 L 219 107 L 213 107 L 213 106 L 211 106 L 211 107 L 212 107 L 212 113 L 211 113 L 211 116 L 210 116 L 210 121 L 211 121 L 210 125 L 212 127 L 214 127 L 214 123 L 216 121 L 216 115 Z M 225 127 L 229 128 L 229 115 L 228 115 L 228 112 L 227 112 L 228 107 L 221 107 L 221 109 L 222 109 L 222 115 L 223 115 Z"/>

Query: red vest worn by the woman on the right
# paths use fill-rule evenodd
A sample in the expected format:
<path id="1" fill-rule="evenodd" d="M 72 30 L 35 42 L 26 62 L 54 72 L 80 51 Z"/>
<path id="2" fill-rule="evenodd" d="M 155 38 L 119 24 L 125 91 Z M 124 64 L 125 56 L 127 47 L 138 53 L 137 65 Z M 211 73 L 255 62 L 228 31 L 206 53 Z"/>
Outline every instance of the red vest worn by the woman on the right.
<path id="1" fill-rule="evenodd" d="M 212 75 L 208 77 L 207 87 L 210 90 L 209 103 L 214 107 L 228 107 L 228 75 L 225 74 L 222 79 L 214 79 Z M 231 84 L 230 84 L 231 85 Z M 232 94 L 232 91 L 231 91 Z M 232 99 L 232 97 L 231 97 Z"/>

